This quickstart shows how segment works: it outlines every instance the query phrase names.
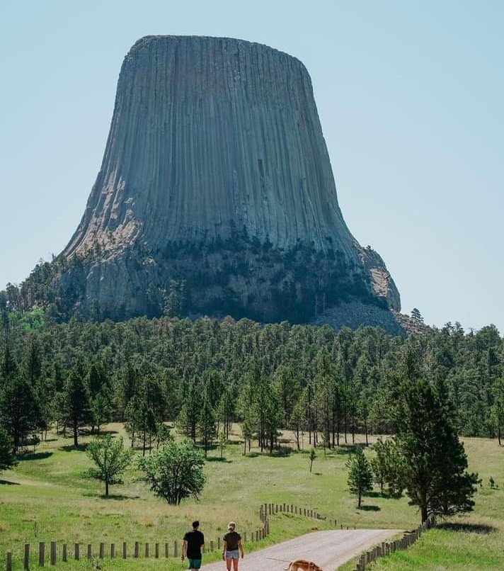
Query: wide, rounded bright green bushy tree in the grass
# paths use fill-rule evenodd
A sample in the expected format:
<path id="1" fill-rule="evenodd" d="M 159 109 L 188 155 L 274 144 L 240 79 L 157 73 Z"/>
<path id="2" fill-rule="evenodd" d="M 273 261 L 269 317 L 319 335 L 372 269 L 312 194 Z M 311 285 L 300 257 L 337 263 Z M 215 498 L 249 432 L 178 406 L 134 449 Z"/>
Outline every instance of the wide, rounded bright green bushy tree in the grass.
<path id="1" fill-rule="evenodd" d="M 204 464 L 201 453 L 188 443 L 168 442 L 149 458 L 140 458 L 138 466 L 156 496 L 178 505 L 186 497 L 199 497 L 205 485 Z"/>

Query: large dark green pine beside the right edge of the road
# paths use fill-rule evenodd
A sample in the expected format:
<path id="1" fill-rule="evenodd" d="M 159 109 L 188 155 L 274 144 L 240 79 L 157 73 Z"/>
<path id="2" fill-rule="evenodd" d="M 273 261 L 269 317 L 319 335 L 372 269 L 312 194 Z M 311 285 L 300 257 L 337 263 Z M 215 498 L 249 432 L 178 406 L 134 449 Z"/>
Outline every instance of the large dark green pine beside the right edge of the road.
<path id="1" fill-rule="evenodd" d="M 464 445 L 445 397 L 425 378 L 404 375 L 394 416 L 406 492 L 409 503 L 419 507 L 422 521 L 430 515 L 471 511 L 479 478 L 466 471 Z"/>

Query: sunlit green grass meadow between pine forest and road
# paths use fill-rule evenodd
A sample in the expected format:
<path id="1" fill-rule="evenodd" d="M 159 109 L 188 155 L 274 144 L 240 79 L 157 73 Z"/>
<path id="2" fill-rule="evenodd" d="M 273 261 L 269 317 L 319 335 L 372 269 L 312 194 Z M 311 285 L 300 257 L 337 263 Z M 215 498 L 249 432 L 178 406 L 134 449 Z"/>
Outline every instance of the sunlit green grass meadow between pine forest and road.
<path id="1" fill-rule="evenodd" d="M 109 431 L 122 434 L 120 424 L 110 424 Z M 237 430 L 238 432 L 238 430 Z M 287 436 L 287 435 L 285 435 Z M 86 439 L 82 440 L 86 443 Z M 362 442 L 362 437 L 357 437 Z M 375 564 L 376 569 L 504 569 L 504 448 L 495 441 L 467 439 L 471 469 L 483 477 L 483 488 L 476 496 L 476 511 L 464 519 L 469 527 L 463 531 L 442 528 L 430 531 L 410 550 L 386 558 Z M 103 497 L 103 485 L 81 477 L 91 466 L 84 451 L 75 450 L 70 439 L 50 434 L 33 455 L 25 456 L 14 470 L 0 475 L 0 554 L 4 566 L 6 550 L 13 551 L 13 569 L 22 568 L 24 543 L 32 545 L 33 567 L 39 541 L 81 543 L 81 553 L 87 543 L 128 542 L 132 553 L 134 541 L 141 543 L 170 543 L 180 540 L 193 519 L 200 519 L 207 547 L 210 540 L 222 536 L 230 519 L 237 521 L 240 531 L 250 532 L 260 526 L 258 507 L 261 502 L 289 503 L 317 509 L 328 519 L 337 519 L 338 527 L 412 529 L 419 523 L 418 511 L 408 507 L 407 499 L 389 499 L 372 494 L 365 498 L 362 510 L 356 509 L 355 498 L 346 489 L 345 460 L 349 448 L 323 456 L 317 450 L 313 473 L 309 473 L 309 447 L 290 456 L 261 456 L 256 450 L 242 456 L 238 443 L 224 449 L 224 460 L 219 451 L 209 453 L 205 463 L 207 485 L 200 502 L 187 500 L 180 507 L 166 502 L 149 492 L 138 473 L 132 468 L 125 475 L 124 485 L 111 487 L 111 497 Z M 503 490 L 490 490 L 488 478 L 493 476 Z M 328 528 L 328 521 L 277 514 L 270 526 L 270 536 L 260 543 L 246 545 L 247 550 L 277 543 L 287 538 Z M 471 527 L 472 526 L 472 527 Z M 47 553 L 49 546 L 47 545 Z M 151 545 L 151 553 L 154 547 Z M 479 556 L 481 553 L 481 557 Z M 217 551 L 205 555 L 208 562 L 218 558 Z M 141 565 L 140 565 L 141 562 Z M 67 563 L 58 562 L 52 569 L 92 569 L 87 559 Z M 46 562 L 46 565 L 48 563 Z M 350 570 L 354 562 L 342 567 Z M 472 566 L 471 566 L 472 565 Z M 180 560 L 109 560 L 101 562 L 103 570 L 162 568 L 181 570 Z"/>

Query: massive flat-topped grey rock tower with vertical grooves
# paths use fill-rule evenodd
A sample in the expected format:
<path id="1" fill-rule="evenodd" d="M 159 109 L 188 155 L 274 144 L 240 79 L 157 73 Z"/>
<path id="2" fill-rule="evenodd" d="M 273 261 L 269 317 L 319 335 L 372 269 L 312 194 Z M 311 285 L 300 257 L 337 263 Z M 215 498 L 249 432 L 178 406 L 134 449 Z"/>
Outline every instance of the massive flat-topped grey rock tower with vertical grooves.
<path id="1" fill-rule="evenodd" d="M 229 38 L 135 43 L 62 258 L 59 286 L 83 315 L 307 322 L 354 304 L 389 324 L 400 309 L 341 215 L 307 69 Z"/>

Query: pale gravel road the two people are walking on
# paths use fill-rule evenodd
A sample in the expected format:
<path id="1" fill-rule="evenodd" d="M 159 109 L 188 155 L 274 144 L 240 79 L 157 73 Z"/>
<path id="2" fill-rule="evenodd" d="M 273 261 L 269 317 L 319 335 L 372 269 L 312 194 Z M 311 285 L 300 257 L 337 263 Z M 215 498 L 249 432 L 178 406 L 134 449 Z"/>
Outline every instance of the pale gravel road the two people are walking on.
<path id="1" fill-rule="evenodd" d="M 333 571 L 362 550 L 385 541 L 397 532 L 396 529 L 315 531 L 250 555 L 245 552 L 245 558 L 239 562 L 239 571 L 282 571 L 288 562 L 295 559 L 307 559 L 324 571 Z M 226 565 L 224 561 L 209 563 L 202 565 L 202 570 L 225 571 Z"/>

